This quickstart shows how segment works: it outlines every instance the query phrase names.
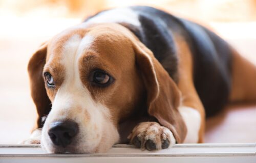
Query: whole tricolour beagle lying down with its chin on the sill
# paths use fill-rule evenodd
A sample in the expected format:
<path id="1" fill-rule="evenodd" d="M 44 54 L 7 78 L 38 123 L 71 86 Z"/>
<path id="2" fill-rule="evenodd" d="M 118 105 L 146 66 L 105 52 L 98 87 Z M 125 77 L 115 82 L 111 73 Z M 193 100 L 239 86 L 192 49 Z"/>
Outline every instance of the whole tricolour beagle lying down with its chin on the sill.
<path id="1" fill-rule="evenodd" d="M 256 68 L 215 33 L 152 7 L 105 10 L 28 64 L 38 119 L 23 143 L 49 153 L 202 143 L 205 118 L 256 101 Z"/>

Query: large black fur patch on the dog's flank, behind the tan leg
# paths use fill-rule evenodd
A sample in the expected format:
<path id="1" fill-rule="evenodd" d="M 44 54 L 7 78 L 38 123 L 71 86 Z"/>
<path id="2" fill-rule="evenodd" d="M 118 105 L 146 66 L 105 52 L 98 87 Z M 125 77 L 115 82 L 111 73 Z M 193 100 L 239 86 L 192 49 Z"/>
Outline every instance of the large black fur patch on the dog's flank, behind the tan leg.
<path id="1" fill-rule="evenodd" d="M 183 19 L 181 22 L 193 53 L 196 90 L 205 107 L 206 116 L 213 116 L 228 102 L 231 50 L 223 39 L 203 26 Z"/>

